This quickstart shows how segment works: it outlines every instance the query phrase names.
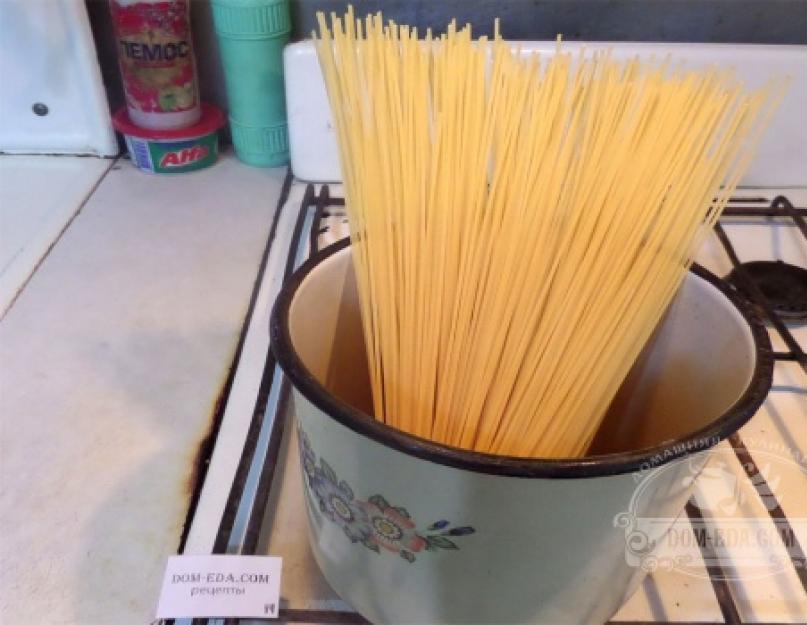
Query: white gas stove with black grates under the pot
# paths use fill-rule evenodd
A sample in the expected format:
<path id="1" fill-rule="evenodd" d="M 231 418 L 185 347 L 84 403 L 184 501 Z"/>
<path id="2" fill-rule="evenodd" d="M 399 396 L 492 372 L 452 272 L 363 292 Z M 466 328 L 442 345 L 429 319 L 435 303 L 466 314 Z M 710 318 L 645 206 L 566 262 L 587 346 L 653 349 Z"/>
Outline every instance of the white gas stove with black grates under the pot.
<path id="1" fill-rule="evenodd" d="M 639 47 L 656 50 L 652 44 Z M 759 412 L 718 446 L 685 514 L 648 564 L 651 574 L 613 622 L 803 623 L 807 137 L 799 111 L 807 110 L 807 50 L 690 46 L 688 55 L 698 62 L 727 56 L 747 61 L 756 72 L 752 80 L 782 67 L 795 74 L 759 158 L 697 257 L 754 302 L 773 344 L 774 381 Z M 309 551 L 290 389 L 267 333 L 283 282 L 313 252 L 349 235 L 341 185 L 321 182 L 336 178 L 338 168 L 312 59 L 309 44 L 287 51 L 292 166 L 300 178 L 289 174 L 278 203 L 183 551 L 282 556 L 282 619 L 360 623 Z M 789 274 L 792 281 L 782 283 Z"/>

